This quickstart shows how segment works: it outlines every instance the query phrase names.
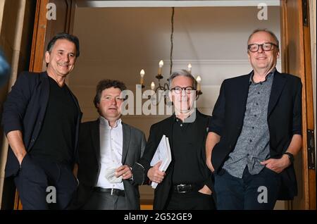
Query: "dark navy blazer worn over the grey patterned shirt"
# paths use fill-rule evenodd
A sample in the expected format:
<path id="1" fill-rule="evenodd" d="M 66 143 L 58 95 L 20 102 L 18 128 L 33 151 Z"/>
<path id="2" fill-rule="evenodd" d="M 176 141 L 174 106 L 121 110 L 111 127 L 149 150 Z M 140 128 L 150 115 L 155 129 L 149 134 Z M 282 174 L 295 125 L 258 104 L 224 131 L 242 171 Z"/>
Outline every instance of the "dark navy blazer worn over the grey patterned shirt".
<path id="1" fill-rule="evenodd" d="M 235 149 L 243 126 L 247 105 L 250 75 L 224 80 L 213 108 L 209 132 L 220 135 L 220 142 L 213 147 L 211 162 L 219 172 L 227 156 Z M 302 83 L 299 77 L 275 71 L 268 101 L 268 130 L 270 156 L 280 158 L 290 145 L 292 136 L 302 135 Z M 280 173 L 282 187 L 279 199 L 292 199 L 297 195 L 294 167 Z"/>

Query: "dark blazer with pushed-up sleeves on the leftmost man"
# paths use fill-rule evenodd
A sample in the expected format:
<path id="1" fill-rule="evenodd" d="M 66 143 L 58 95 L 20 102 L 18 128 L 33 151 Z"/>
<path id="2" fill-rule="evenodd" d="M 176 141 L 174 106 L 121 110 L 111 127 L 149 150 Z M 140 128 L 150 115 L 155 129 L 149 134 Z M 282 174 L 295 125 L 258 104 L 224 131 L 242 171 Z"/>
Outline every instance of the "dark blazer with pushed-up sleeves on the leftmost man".
<path id="1" fill-rule="evenodd" d="M 75 130 L 74 160 L 77 160 L 77 142 L 80 120 L 82 112 L 76 97 L 70 92 L 77 106 L 78 117 Z M 13 130 L 20 130 L 23 134 L 25 149 L 29 152 L 42 127 L 47 103 L 49 101 L 49 77 L 46 72 L 28 73 L 23 72 L 15 81 L 11 92 L 4 103 L 4 113 L 2 114 L 2 125 L 4 132 L 8 134 Z M 58 120 L 56 120 L 57 122 Z M 73 165 L 73 164 L 72 164 Z M 8 151 L 6 161 L 6 177 L 16 175 L 20 168 L 18 159 L 13 154 L 11 148 Z"/>

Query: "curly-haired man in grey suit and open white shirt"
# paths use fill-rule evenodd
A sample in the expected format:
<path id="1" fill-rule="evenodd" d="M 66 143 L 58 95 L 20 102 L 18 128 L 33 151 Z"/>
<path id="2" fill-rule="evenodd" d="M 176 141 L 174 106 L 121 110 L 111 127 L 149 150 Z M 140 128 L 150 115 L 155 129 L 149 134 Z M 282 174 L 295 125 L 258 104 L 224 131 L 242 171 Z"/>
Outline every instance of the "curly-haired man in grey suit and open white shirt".
<path id="1" fill-rule="evenodd" d="M 77 178 L 80 185 L 72 209 L 136 210 L 144 169 L 136 161 L 146 144 L 144 133 L 123 123 L 123 82 L 101 80 L 94 97 L 100 117 L 80 127 Z"/>

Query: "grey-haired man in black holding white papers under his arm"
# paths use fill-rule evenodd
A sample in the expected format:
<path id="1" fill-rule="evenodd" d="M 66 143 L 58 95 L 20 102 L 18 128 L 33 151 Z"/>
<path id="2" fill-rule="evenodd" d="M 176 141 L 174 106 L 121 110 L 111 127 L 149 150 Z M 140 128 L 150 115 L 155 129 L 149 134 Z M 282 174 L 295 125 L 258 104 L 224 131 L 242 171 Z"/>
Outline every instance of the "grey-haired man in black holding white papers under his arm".
<path id="1" fill-rule="evenodd" d="M 139 163 L 152 182 L 159 183 L 154 192 L 154 209 L 215 209 L 213 177 L 206 166 L 205 142 L 210 116 L 193 105 L 197 81 L 186 70 L 169 78 L 170 99 L 175 113 L 151 126 L 147 147 Z M 163 135 L 169 140 L 172 161 L 166 172 L 161 162 L 150 166 Z"/>

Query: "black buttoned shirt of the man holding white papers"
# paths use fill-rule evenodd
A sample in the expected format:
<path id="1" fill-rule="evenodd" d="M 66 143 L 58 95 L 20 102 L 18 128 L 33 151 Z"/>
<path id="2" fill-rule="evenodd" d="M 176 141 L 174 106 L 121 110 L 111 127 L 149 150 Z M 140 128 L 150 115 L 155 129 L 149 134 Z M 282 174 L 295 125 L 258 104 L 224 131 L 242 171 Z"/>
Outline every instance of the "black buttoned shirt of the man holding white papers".
<path id="1" fill-rule="evenodd" d="M 201 184 L 205 181 L 204 175 L 199 169 L 200 163 L 198 151 L 201 144 L 198 139 L 197 119 L 192 123 L 183 123 L 175 116 L 173 125 L 173 185 Z"/>

